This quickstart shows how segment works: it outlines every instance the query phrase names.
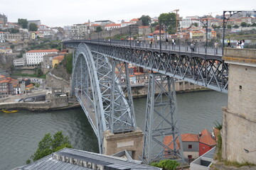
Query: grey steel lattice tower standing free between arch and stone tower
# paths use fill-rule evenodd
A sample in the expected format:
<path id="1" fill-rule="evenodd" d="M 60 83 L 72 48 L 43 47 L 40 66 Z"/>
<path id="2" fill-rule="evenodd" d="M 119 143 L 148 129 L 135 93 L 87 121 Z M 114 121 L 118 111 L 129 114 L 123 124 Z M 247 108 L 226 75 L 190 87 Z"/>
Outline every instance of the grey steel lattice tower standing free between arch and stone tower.
<path id="1" fill-rule="evenodd" d="M 156 95 L 157 94 L 157 95 Z M 145 164 L 161 159 L 181 159 L 183 149 L 178 131 L 174 77 L 149 74 L 146 123 L 142 159 Z M 164 142 L 166 136 L 171 140 Z M 179 146 L 177 141 L 179 140 Z"/>

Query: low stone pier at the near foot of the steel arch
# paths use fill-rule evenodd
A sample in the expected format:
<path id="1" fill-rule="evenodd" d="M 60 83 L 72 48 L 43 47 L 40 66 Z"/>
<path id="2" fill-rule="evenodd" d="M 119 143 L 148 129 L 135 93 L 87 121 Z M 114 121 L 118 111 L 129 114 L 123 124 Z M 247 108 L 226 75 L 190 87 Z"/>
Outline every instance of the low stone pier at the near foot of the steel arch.
<path id="1" fill-rule="evenodd" d="M 103 133 L 103 154 L 112 155 L 124 149 L 132 152 L 132 159 L 139 160 L 143 148 L 142 130 L 113 134 L 110 130 Z"/>

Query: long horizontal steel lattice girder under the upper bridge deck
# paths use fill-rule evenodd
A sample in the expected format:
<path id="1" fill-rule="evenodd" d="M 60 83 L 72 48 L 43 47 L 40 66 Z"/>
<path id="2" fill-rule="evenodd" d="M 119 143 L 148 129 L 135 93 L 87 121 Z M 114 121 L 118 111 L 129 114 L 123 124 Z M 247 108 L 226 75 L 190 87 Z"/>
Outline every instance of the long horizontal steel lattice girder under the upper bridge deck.
<path id="1" fill-rule="evenodd" d="M 166 52 L 107 44 L 87 44 L 90 49 L 116 60 L 184 79 L 215 91 L 228 93 L 228 64 L 221 57 L 189 52 Z"/>

